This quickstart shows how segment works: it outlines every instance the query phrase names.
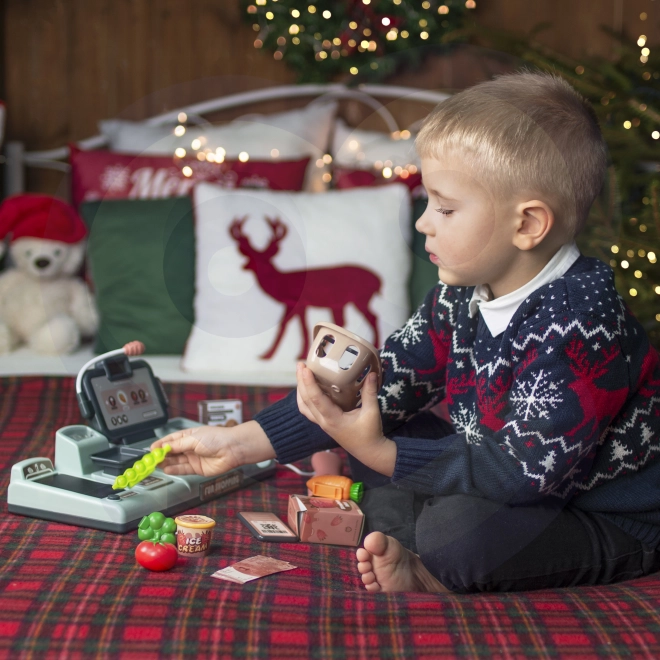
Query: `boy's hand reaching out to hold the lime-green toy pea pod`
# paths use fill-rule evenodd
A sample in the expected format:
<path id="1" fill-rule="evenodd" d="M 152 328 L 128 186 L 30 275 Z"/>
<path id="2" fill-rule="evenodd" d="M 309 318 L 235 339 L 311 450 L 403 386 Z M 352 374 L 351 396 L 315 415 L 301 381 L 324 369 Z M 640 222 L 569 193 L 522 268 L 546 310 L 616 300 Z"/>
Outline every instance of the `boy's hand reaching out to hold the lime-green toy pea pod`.
<path id="1" fill-rule="evenodd" d="M 275 458 L 275 450 L 254 421 L 233 427 L 196 426 L 170 433 L 151 444 L 169 444 L 172 451 L 160 464 L 166 474 L 210 477 L 245 465 Z"/>

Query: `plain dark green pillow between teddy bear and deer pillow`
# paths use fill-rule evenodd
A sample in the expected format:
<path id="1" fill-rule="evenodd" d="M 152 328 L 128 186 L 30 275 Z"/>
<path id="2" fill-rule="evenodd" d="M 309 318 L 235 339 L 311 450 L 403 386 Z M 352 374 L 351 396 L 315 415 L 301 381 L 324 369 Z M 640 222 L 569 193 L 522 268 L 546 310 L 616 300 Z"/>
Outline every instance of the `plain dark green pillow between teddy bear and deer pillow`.
<path id="1" fill-rule="evenodd" d="M 194 322 L 190 198 L 85 202 L 80 213 L 101 317 L 96 351 L 139 339 L 148 353 L 182 354 Z"/>

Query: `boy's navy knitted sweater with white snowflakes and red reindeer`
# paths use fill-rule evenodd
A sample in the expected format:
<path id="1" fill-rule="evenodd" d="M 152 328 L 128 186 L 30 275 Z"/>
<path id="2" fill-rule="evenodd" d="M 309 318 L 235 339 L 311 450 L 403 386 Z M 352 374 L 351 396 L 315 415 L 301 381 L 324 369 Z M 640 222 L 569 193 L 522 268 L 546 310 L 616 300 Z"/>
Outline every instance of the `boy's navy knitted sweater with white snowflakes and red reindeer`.
<path id="1" fill-rule="evenodd" d="M 481 314 L 470 316 L 473 290 L 439 283 L 381 350 L 392 481 L 511 505 L 570 500 L 660 545 L 660 360 L 611 269 L 579 257 L 497 337 Z M 454 434 L 397 436 L 442 399 Z M 333 446 L 294 393 L 255 419 L 280 462 Z"/>

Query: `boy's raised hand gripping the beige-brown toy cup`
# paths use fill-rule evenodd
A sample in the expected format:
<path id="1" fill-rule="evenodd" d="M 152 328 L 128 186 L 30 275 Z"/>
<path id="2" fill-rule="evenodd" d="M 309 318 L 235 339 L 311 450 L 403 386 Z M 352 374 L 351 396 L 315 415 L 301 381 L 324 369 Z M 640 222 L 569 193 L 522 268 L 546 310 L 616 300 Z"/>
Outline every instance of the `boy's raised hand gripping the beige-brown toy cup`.
<path id="1" fill-rule="evenodd" d="M 344 412 L 324 394 L 314 374 L 304 364 L 298 364 L 296 377 L 300 412 L 359 461 L 391 476 L 396 445 L 383 435 L 376 374 L 370 373 L 362 386 L 362 406 L 350 412 Z"/>

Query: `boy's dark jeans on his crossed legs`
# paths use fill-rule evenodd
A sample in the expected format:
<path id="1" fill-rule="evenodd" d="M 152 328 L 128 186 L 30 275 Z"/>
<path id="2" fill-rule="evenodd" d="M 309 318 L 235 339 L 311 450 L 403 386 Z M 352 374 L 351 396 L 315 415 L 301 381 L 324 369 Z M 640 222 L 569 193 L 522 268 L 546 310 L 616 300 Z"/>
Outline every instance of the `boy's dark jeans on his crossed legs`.
<path id="1" fill-rule="evenodd" d="M 451 432 L 432 417 L 419 415 L 397 434 Z M 422 430 L 426 436 L 417 435 Z M 365 534 L 393 536 L 455 592 L 609 584 L 660 570 L 660 552 L 570 504 L 525 507 L 468 495 L 429 497 L 395 486 L 354 459 L 351 468 L 365 481 Z"/>

